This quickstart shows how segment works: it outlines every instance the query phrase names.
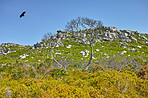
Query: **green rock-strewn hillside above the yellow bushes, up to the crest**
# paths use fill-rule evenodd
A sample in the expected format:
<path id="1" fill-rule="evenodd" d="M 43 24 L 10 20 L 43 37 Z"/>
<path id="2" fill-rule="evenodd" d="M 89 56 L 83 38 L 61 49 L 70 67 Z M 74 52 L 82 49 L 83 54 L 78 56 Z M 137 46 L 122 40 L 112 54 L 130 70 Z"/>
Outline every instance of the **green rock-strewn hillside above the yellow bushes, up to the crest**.
<path id="1" fill-rule="evenodd" d="M 95 30 L 95 35 L 98 37 L 93 44 L 93 64 L 117 55 L 124 58 L 137 58 L 142 65 L 148 63 L 148 34 L 103 26 L 102 32 Z M 54 57 L 62 63 L 68 60 L 81 65 L 88 62 L 90 58 L 88 37 L 91 37 L 91 34 L 86 33 L 85 30 L 73 34 L 58 30 L 57 34 L 52 35 L 50 39 L 44 39 L 43 42 L 36 43 L 34 46 L 2 43 L 0 65 L 16 63 L 32 65 L 43 63 L 46 59 L 51 60 L 50 49 L 57 39 L 60 40 L 53 50 Z M 73 63 L 70 64 L 74 65 Z"/>

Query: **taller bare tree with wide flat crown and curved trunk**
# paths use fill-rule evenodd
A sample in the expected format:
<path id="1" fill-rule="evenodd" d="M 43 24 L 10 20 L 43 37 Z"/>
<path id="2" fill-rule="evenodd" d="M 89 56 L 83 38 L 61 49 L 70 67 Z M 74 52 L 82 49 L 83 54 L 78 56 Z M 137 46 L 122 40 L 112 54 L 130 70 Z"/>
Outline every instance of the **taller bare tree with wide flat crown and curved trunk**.
<path id="1" fill-rule="evenodd" d="M 97 37 L 95 35 L 95 29 L 98 29 L 99 31 L 101 31 L 102 25 L 103 23 L 101 21 L 90 19 L 87 17 L 78 17 L 68 22 L 67 25 L 65 26 L 66 30 L 71 31 L 72 34 L 74 34 L 74 32 L 85 30 L 86 33 L 91 35 L 91 37 L 87 37 L 89 41 L 89 46 L 91 47 L 91 56 L 90 56 L 89 62 L 85 67 L 85 71 L 88 70 L 93 57 L 93 43 L 94 43 L 94 39 Z"/>

